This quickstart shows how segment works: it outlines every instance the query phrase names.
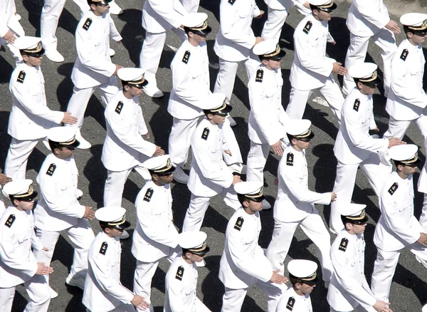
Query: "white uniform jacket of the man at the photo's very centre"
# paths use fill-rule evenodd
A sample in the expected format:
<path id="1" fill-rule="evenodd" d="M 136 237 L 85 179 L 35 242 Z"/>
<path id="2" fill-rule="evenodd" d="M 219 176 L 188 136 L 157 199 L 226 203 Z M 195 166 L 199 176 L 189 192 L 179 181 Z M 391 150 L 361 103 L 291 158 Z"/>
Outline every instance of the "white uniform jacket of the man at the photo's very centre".
<path id="1" fill-rule="evenodd" d="M 223 161 L 228 147 L 222 127 L 204 118 L 191 137 L 193 160 L 187 185 L 196 196 L 214 197 L 233 184 L 233 174 Z"/>

